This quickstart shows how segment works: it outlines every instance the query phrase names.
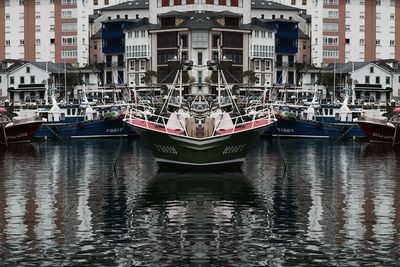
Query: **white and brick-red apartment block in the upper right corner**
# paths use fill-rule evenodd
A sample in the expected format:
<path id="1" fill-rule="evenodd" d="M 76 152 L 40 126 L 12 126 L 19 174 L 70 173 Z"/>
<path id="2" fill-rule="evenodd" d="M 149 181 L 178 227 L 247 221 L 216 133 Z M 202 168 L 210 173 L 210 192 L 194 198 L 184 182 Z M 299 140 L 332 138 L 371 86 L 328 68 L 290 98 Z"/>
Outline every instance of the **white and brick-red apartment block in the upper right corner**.
<path id="1" fill-rule="evenodd" d="M 400 59 L 400 1 L 274 0 L 312 17 L 312 62 Z"/>

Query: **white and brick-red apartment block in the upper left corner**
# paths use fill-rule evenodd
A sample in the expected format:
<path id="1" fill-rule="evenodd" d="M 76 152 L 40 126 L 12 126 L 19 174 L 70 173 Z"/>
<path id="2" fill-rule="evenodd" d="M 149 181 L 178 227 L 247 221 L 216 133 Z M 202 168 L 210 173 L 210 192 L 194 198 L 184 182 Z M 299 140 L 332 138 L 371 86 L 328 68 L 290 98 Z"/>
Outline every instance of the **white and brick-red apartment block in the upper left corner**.
<path id="1" fill-rule="evenodd" d="M 122 0 L 0 1 L 0 60 L 52 61 L 84 66 L 89 60 L 88 17 Z"/>

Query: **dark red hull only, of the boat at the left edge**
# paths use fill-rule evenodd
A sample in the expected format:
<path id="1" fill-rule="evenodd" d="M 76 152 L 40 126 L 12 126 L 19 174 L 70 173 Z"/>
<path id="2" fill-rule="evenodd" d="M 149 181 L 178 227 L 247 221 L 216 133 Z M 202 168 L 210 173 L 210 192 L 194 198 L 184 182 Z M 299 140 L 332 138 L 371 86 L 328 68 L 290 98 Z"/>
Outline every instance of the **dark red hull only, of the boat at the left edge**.
<path id="1" fill-rule="evenodd" d="M 7 143 L 26 143 L 30 142 L 42 125 L 43 122 L 31 122 L 24 124 L 16 124 L 11 127 L 5 128 Z M 3 124 L 0 124 L 0 144 L 5 144 Z"/>

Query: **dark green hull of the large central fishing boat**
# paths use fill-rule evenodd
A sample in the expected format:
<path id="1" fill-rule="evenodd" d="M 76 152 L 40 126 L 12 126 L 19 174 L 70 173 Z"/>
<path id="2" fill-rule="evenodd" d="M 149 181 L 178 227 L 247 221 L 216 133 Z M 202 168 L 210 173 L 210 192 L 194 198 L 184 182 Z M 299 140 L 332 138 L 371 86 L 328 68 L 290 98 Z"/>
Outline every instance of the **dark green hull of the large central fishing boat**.
<path id="1" fill-rule="evenodd" d="M 130 123 L 128 125 L 144 140 L 160 167 L 220 169 L 240 167 L 260 135 L 273 123 L 205 139 L 169 134 Z"/>

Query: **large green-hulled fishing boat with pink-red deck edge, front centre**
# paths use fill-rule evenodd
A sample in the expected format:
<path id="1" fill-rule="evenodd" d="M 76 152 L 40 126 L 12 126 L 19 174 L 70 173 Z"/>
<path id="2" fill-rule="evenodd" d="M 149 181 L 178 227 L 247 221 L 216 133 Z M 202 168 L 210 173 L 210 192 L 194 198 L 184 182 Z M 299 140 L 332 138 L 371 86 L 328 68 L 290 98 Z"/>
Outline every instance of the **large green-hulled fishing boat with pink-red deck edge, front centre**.
<path id="1" fill-rule="evenodd" d="M 182 75 L 178 71 L 160 112 L 151 107 L 133 109 L 125 120 L 161 169 L 240 169 L 259 136 L 274 125 L 275 119 L 265 110 L 240 112 L 222 70 L 218 74 L 219 81 L 225 81 L 224 88 L 218 85 L 218 96 L 201 90 L 182 96 L 182 84 L 176 86 Z"/>

